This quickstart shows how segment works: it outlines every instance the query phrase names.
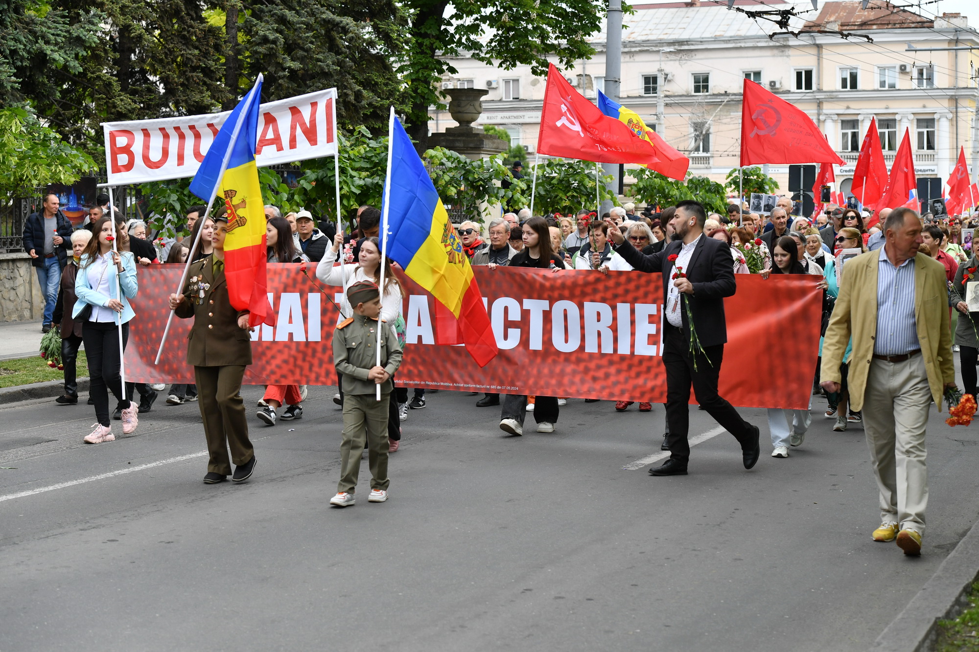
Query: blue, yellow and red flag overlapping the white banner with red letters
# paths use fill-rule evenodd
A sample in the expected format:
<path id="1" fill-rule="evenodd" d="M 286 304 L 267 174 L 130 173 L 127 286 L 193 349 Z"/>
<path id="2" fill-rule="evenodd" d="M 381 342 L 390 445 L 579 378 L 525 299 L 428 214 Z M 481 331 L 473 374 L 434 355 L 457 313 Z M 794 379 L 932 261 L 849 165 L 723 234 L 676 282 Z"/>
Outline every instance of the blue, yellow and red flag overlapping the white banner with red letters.
<path id="1" fill-rule="evenodd" d="M 190 191 L 210 203 L 223 202 L 228 217 L 224 277 L 236 310 L 249 310 L 249 324 L 274 324 L 265 294 L 265 210 L 258 185 L 255 148 L 261 75 L 214 136 L 190 183 Z M 216 195 L 215 195 L 216 192 Z"/>

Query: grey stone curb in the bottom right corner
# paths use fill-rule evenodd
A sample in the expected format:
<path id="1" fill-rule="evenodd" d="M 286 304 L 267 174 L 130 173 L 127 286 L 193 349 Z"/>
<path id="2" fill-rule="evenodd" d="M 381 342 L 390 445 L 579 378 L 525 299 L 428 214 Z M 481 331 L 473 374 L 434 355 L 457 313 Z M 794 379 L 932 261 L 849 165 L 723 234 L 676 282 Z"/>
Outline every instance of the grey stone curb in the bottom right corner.
<path id="1" fill-rule="evenodd" d="M 956 618 L 966 606 L 965 594 L 979 579 L 979 522 L 956 545 L 935 575 L 925 582 L 897 618 L 877 636 L 875 652 L 928 652 L 941 619 Z"/>

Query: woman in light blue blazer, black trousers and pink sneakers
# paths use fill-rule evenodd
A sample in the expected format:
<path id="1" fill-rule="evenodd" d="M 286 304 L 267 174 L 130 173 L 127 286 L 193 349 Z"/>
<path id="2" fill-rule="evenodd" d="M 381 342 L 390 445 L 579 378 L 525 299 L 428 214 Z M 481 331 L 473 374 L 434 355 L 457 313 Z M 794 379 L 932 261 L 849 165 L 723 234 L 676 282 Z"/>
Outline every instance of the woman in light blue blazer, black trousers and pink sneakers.
<path id="1" fill-rule="evenodd" d="M 119 373 L 118 327 L 122 324 L 122 343 L 129 336 L 129 320 L 136 316 L 129 300 L 136 296 L 136 260 L 129 252 L 113 251 L 113 239 L 119 243 L 125 237 L 121 229 L 113 228 L 111 217 L 102 217 L 92 228 L 93 238 L 78 261 L 78 274 L 74 291 L 78 301 L 71 316 L 81 320 L 81 339 L 85 343 L 88 359 L 89 396 L 95 402 L 98 423 L 85 438 L 85 443 L 114 442 L 109 421 L 109 392 L 117 398 L 117 409 L 122 412 L 122 434 L 136 430 L 138 419 L 136 403 L 129 400 L 122 390 Z M 121 288 L 121 296 L 119 295 Z"/>

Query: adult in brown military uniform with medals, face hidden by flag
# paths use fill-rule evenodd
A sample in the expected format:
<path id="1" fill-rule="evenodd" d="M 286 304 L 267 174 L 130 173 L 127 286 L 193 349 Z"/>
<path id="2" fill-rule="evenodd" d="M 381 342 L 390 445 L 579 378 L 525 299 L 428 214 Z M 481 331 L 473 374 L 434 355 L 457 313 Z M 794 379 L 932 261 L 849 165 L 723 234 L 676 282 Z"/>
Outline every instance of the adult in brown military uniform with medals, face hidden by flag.
<path id="1" fill-rule="evenodd" d="M 187 363 L 194 365 L 210 451 L 208 475 L 204 477 L 207 485 L 227 480 L 231 475 L 231 461 L 235 463 L 231 479 L 239 483 L 252 476 L 256 464 L 240 392 L 245 367 L 252 364 L 249 312 L 234 309 L 228 299 L 224 278 L 227 225 L 222 209 L 214 218 L 213 254 L 192 263 L 183 293 L 170 295 L 170 309 L 178 317 L 194 317 L 187 339 Z"/>

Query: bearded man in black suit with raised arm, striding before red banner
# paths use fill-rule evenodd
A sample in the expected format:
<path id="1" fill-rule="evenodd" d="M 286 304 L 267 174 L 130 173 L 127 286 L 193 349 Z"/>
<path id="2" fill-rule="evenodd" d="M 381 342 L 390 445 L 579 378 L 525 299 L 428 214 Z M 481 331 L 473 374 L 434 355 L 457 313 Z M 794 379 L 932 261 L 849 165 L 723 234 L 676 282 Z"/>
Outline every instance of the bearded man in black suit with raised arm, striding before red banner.
<path id="1" fill-rule="evenodd" d="M 718 394 L 727 328 L 724 322 L 724 297 L 734 294 L 734 272 L 729 246 L 704 236 L 707 213 L 694 201 L 676 205 L 673 224 L 676 240 L 662 252 L 644 256 L 626 242 L 622 232 L 609 223 L 609 239 L 615 251 L 632 267 L 644 272 L 662 272 L 666 319 L 663 320 L 663 364 L 667 370 L 667 423 L 670 426 L 670 459 L 649 470 L 653 476 L 686 475 L 690 444 L 690 385 L 697 402 L 741 444 L 744 468 L 755 466 L 761 447 L 759 430 L 737 413 Z M 684 276 L 672 279 L 674 267 Z M 694 328 L 702 351 L 690 354 L 690 324 L 686 307 L 693 315 Z M 696 368 L 694 364 L 696 363 Z"/>

